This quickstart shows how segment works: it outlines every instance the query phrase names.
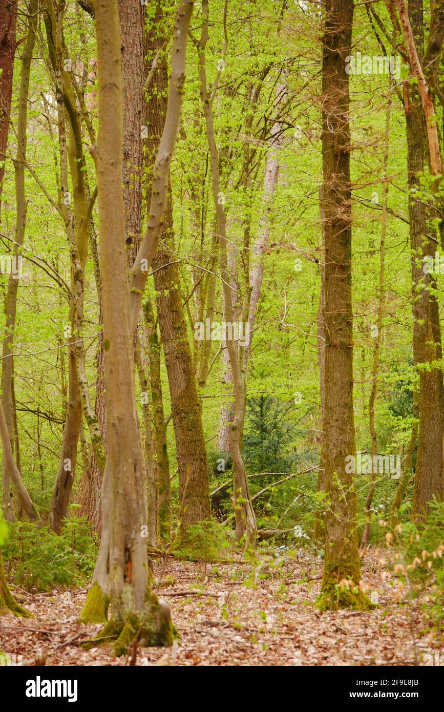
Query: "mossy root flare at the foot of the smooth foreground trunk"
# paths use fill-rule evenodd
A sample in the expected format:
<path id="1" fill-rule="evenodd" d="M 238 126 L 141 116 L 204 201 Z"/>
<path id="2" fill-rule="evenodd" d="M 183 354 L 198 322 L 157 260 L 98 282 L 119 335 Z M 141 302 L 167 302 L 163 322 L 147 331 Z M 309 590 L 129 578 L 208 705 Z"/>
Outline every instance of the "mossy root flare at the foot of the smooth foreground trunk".
<path id="1" fill-rule="evenodd" d="M 88 602 L 88 597 L 94 587 L 97 588 L 90 597 L 90 602 Z M 166 601 L 159 600 L 157 596 L 149 593 L 144 613 L 129 614 L 125 621 L 115 619 L 112 615 L 110 620 L 104 620 L 103 618 L 98 620 L 105 610 L 103 603 L 106 604 L 107 609 L 109 601 L 107 602 L 97 582 L 90 592 L 80 615 L 80 622 L 105 622 L 105 625 L 94 638 L 83 643 L 84 650 L 113 643 L 115 655 L 121 656 L 128 653 L 134 640 L 137 640 L 141 647 L 160 647 L 173 644 L 175 629 L 171 622 L 171 612 Z M 95 619 L 93 620 L 92 617 L 95 617 Z"/>

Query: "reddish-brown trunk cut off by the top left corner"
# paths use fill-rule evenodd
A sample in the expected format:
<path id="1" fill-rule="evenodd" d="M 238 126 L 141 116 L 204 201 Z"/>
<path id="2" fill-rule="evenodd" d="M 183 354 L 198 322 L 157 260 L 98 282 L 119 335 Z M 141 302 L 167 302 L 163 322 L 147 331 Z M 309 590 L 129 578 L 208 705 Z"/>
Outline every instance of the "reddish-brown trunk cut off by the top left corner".
<path id="1" fill-rule="evenodd" d="M 11 115 L 12 77 L 16 52 L 17 1 L 0 3 L 0 209 L 4 179 L 6 146 L 8 145 Z"/>

